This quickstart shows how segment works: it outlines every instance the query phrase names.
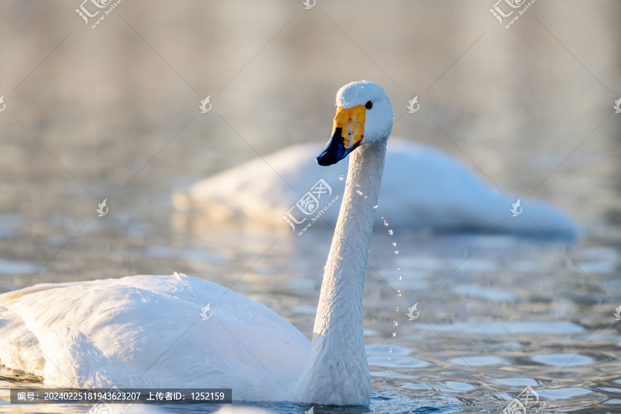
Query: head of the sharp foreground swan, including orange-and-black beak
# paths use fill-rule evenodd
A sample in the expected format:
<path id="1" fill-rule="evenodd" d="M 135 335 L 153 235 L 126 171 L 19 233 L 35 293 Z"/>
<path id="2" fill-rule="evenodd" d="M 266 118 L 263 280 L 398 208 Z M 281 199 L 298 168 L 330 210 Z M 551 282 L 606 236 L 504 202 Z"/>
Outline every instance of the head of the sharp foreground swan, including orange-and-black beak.
<path id="1" fill-rule="evenodd" d="M 331 166 L 361 145 L 388 139 L 393 128 L 393 108 L 388 95 L 373 82 L 348 83 L 336 99 L 332 138 L 317 155 L 317 164 Z"/>

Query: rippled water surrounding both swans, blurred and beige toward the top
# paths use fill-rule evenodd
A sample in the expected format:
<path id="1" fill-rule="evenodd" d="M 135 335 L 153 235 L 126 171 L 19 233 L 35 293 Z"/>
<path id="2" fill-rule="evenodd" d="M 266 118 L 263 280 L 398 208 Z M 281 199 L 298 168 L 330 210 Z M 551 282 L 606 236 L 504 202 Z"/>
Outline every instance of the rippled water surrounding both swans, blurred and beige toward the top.
<path id="1" fill-rule="evenodd" d="M 1 292 L 243 275 L 235 290 L 310 337 L 330 231 L 291 243 L 284 222 L 201 222 L 170 194 L 326 141 L 335 93 L 366 79 L 391 98 L 393 136 L 556 204 L 581 230 L 556 245 L 379 229 L 364 303 L 371 411 L 500 412 L 526 385 L 547 412 L 621 409 L 621 3 L 537 1 L 509 29 L 493 0 L 124 0 L 95 29 L 80 6 L 0 3 Z M 415 302 L 421 318 L 391 335 Z M 40 381 L 0 369 L 3 391 Z"/>

